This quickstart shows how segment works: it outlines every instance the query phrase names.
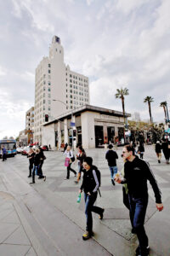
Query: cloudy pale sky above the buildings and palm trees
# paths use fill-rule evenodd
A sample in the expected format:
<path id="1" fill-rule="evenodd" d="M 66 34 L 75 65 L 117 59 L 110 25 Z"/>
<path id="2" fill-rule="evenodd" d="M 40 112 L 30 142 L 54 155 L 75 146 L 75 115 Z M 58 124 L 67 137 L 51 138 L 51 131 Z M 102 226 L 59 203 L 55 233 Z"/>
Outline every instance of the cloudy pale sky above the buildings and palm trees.
<path id="1" fill-rule="evenodd" d="M 122 111 L 117 88 L 129 90 L 128 113 L 154 121 L 170 108 L 169 0 L 0 1 L 0 138 L 25 129 L 34 105 L 35 68 L 54 35 L 65 64 L 89 78 L 90 103 Z"/>

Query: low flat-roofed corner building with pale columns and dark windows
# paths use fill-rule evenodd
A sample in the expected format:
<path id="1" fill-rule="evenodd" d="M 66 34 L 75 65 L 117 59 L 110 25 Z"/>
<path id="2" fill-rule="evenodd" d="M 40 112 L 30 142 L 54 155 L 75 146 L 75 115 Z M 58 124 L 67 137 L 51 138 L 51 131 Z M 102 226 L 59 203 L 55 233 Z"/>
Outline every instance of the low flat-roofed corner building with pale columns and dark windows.
<path id="1" fill-rule="evenodd" d="M 126 113 L 126 117 L 130 114 Z M 83 105 L 43 125 L 42 143 L 61 148 L 65 143 L 83 148 L 100 148 L 121 142 L 124 137 L 123 113 L 107 108 Z"/>

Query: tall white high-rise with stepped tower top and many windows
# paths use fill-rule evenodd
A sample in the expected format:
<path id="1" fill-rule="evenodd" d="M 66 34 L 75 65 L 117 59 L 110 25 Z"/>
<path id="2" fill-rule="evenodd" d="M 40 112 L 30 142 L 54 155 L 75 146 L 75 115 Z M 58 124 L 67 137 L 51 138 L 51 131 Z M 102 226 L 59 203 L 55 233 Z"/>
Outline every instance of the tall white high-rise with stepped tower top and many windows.
<path id="1" fill-rule="evenodd" d="M 60 38 L 54 36 L 49 56 L 37 66 L 35 85 L 34 141 L 41 144 L 45 114 L 50 121 L 67 110 L 89 104 L 89 83 L 88 77 L 65 65 Z"/>

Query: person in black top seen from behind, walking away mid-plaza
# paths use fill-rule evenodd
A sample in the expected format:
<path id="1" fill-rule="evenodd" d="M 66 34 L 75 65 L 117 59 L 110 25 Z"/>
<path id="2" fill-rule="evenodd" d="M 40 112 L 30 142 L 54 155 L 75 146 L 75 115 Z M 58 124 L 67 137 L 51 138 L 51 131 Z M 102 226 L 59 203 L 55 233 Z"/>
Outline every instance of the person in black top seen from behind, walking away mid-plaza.
<path id="1" fill-rule="evenodd" d="M 118 155 L 116 151 L 113 150 L 112 144 L 110 144 L 108 148 L 109 150 L 105 154 L 105 159 L 108 161 L 108 166 L 111 171 L 111 183 L 115 186 L 114 178 L 117 173 L 116 159 L 118 159 Z"/>

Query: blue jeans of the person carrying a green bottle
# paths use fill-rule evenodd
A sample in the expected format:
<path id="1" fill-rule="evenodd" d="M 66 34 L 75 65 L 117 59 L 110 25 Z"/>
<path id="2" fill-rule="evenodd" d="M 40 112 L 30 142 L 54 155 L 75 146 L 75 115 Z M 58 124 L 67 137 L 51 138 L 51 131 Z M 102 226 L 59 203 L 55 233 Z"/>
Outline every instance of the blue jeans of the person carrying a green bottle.
<path id="1" fill-rule="evenodd" d="M 101 214 L 103 209 L 100 207 L 94 207 L 94 202 L 97 199 L 98 192 L 95 192 L 93 195 L 88 195 L 84 192 L 84 201 L 85 201 L 85 214 L 86 214 L 86 230 L 89 233 L 93 230 L 93 218 L 92 212 Z"/>

